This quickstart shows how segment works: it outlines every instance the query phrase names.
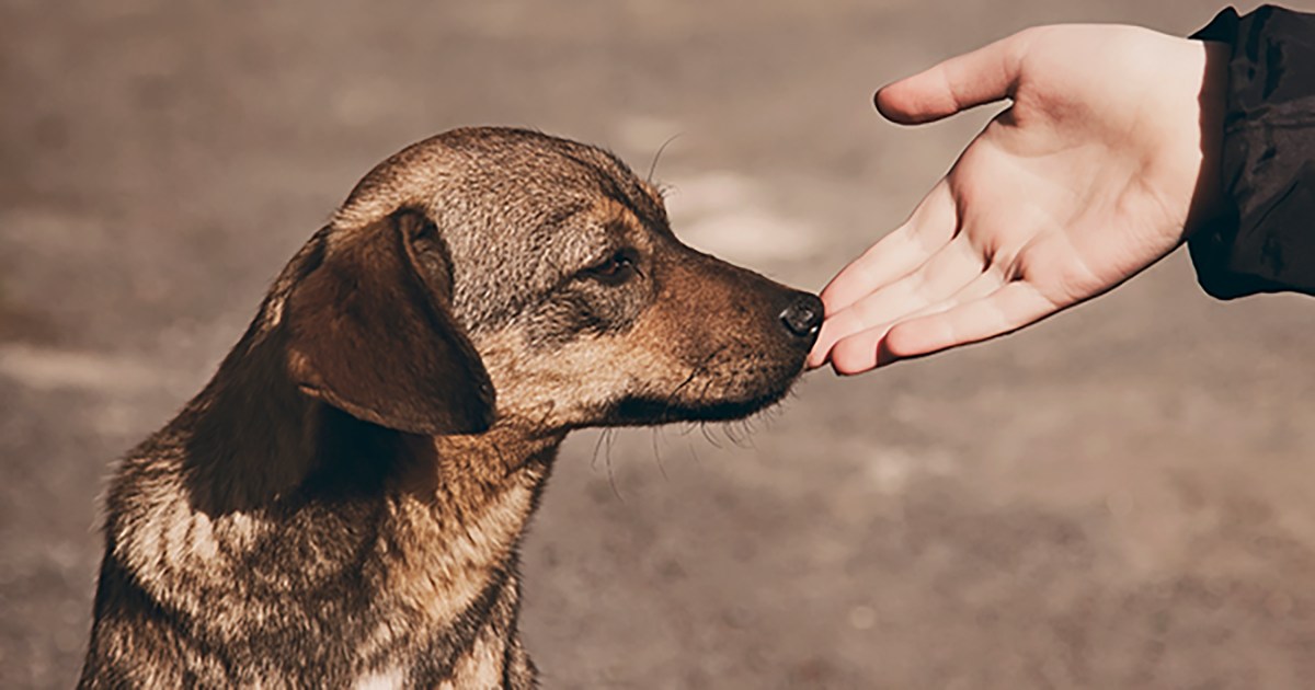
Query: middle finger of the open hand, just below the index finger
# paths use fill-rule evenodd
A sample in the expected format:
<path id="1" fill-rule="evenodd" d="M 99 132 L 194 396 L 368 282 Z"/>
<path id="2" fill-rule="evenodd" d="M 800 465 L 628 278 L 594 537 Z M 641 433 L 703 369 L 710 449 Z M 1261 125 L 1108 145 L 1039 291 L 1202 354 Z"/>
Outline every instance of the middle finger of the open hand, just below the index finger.
<path id="1" fill-rule="evenodd" d="M 810 352 L 809 364 L 821 367 L 835 343 L 856 334 L 873 331 L 865 338 L 880 340 L 890 323 L 923 314 L 928 308 L 961 293 L 965 285 L 977 284 L 982 268 L 984 258 L 967 238 L 951 242 L 909 276 L 830 314 Z M 998 287 L 998 279 L 993 280 Z M 851 343 L 849 347 L 860 346 Z"/>

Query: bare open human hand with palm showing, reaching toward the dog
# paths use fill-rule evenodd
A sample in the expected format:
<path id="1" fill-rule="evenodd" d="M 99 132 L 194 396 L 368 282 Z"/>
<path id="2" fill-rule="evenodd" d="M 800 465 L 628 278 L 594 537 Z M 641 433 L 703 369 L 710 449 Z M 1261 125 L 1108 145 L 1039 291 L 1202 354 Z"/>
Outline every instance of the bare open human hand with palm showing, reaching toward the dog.
<path id="1" fill-rule="evenodd" d="M 993 338 L 1173 251 L 1218 202 L 1220 50 L 1132 26 L 1043 26 L 878 91 L 881 114 L 907 125 L 1013 105 L 831 280 L 809 367 L 860 373 Z"/>

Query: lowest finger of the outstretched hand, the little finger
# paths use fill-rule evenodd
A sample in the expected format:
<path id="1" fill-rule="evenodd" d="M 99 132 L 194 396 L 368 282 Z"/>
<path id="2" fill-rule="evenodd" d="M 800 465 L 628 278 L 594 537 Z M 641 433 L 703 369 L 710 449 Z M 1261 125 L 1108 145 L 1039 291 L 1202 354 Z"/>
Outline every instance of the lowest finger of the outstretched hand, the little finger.
<path id="1" fill-rule="evenodd" d="M 882 346 L 896 359 L 927 355 L 1018 330 L 1057 310 L 1032 284 L 1019 280 L 982 300 L 897 323 Z"/>

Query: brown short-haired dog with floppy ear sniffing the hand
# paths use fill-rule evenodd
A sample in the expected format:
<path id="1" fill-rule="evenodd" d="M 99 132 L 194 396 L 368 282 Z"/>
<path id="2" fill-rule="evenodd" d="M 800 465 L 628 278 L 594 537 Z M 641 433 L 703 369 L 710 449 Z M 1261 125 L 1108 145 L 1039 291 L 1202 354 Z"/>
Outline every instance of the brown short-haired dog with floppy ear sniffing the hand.
<path id="1" fill-rule="evenodd" d="M 565 435 L 761 410 L 821 321 L 609 152 L 413 145 L 121 461 L 80 687 L 534 687 L 517 549 Z"/>

